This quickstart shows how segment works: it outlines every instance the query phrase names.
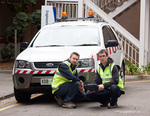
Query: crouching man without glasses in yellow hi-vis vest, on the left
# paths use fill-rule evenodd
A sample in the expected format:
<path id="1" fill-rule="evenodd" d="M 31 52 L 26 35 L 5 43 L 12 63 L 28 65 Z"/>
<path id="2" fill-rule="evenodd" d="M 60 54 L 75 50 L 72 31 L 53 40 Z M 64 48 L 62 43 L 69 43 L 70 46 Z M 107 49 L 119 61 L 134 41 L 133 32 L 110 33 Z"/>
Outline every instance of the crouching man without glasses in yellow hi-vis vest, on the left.
<path id="1" fill-rule="evenodd" d="M 69 59 L 58 65 L 52 82 L 52 93 L 59 106 L 76 108 L 72 101 L 86 97 L 83 82 L 78 78 L 77 63 L 80 55 L 71 53 Z"/>

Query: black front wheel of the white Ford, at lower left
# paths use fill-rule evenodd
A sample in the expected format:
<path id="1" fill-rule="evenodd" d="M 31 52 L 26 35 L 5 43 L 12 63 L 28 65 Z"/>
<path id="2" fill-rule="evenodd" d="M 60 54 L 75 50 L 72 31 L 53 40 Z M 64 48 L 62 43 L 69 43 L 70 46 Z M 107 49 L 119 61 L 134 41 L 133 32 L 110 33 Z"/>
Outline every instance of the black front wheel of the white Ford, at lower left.
<path id="1" fill-rule="evenodd" d="M 30 101 L 31 93 L 14 88 L 14 94 L 15 94 L 15 98 L 18 102 L 29 102 Z"/>

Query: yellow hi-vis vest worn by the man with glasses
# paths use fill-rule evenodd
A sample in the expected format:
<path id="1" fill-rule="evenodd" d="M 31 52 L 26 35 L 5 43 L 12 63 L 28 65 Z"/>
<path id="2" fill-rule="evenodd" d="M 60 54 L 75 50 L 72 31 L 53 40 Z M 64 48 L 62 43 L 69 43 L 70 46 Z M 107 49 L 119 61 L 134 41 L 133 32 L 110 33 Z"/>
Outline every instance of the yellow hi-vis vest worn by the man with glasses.
<path id="1" fill-rule="evenodd" d="M 98 74 L 100 75 L 100 77 L 102 79 L 102 84 L 108 83 L 108 82 L 111 81 L 111 79 L 112 79 L 112 70 L 113 70 L 114 65 L 115 65 L 114 63 L 112 63 L 112 64 L 110 63 L 109 66 L 107 66 L 104 71 L 100 66 L 98 67 L 97 72 L 98 72 Z M 119 73 L 120 73 L 120 71 L 119 71 Z M 124 85 L 123 85 L 120 74 L 119 74 L 118 86 L 119 86 L 121 91 L 124 91 Z"/>

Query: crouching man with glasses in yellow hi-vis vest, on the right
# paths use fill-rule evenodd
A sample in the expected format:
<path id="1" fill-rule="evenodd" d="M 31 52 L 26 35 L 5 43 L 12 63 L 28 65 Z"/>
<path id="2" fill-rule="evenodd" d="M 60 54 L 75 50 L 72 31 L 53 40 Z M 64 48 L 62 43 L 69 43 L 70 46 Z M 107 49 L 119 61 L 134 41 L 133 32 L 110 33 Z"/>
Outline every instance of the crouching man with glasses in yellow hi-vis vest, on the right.
<path id="1" fill-rule="evenodd" d="M 108 57 L 108 52 L 102 49 L 98 52 L 100 64 L 97 68 L 95 83 L 98 85 L 97 92 L 87 91 L 87 98 L 98 101 L 101 107 L 108 109 L 116 108 L 117 101 L 124 91 L 124 85 L 119 76 L 119 71 L 113 63 L 113 59 Z M 108 103 L 110 104 L 108 105 Z"/>

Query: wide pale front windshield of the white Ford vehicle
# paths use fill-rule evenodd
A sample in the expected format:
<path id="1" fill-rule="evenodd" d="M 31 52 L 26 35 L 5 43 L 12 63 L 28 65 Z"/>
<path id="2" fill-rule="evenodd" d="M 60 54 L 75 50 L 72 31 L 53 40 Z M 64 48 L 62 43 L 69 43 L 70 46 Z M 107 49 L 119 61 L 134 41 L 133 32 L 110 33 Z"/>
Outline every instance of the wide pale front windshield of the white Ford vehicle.
<path id="1" fill-rule="evenodd" d="M 98 45 L 100 45 L 98 27 L 87 25 L 45 28 L 31 44 L 32 47 Z"/>

